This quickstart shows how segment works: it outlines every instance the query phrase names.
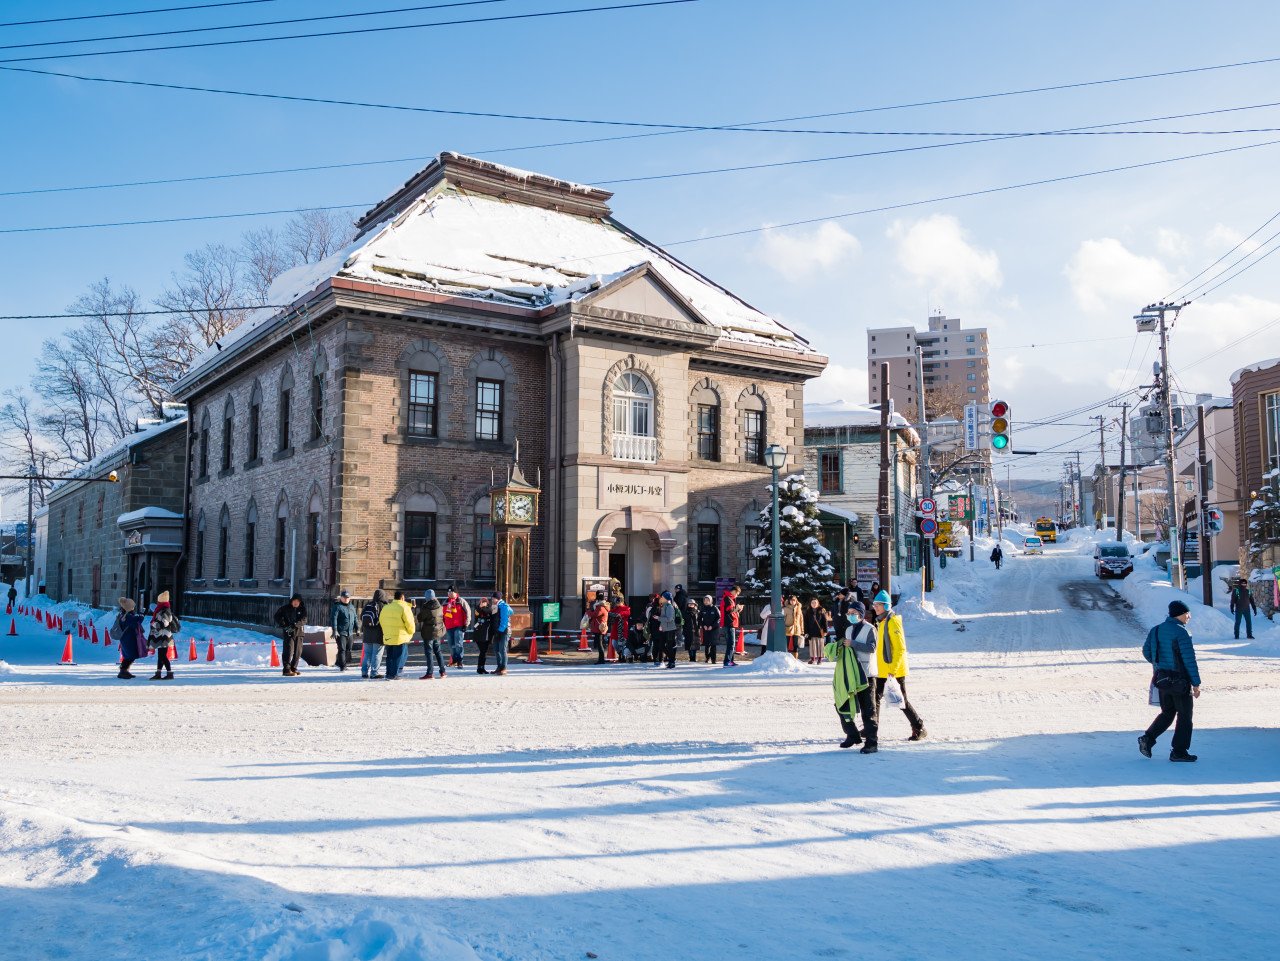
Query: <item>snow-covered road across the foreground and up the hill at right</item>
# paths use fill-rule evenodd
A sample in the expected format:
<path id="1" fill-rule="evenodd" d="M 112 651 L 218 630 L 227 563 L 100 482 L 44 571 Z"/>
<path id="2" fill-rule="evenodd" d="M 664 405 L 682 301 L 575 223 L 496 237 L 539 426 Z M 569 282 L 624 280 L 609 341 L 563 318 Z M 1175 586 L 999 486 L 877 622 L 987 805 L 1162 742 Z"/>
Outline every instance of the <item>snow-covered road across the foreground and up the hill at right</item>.
<path id="1" fill-rule="evenodd" d="M 1144 760 L 1091 575 L 952 562 L 869 758 L 820 669 L 12 665 L 0 958 L 1271 958 L 1280 662 L 1201 645 L 1202 760 Z"/>

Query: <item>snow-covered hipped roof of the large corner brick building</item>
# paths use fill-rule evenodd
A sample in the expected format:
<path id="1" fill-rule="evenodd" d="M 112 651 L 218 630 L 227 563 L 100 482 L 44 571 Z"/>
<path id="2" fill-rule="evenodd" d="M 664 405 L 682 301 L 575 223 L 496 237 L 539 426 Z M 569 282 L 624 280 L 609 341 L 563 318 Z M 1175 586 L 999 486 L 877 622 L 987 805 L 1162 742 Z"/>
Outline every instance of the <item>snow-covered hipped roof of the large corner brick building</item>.
<path id="1" fill-rule="evenodd" d="M 722 340 L 817 353 L 773 317 L 614 220 L 604 206 L 609 196 L 582 184 L 442 154 L 366 214 L 349 246 L 276 278 L 269 302 L 293 305 L 324 283 L 346 278 L 447 294 L 477 306 L 540 311 L 582 299 L 648 265 L 719 329 Z M 288 314 L 271 308 L 252 314 L 201 354 L 187 376 L 215 365 L 236 342 Z"/>

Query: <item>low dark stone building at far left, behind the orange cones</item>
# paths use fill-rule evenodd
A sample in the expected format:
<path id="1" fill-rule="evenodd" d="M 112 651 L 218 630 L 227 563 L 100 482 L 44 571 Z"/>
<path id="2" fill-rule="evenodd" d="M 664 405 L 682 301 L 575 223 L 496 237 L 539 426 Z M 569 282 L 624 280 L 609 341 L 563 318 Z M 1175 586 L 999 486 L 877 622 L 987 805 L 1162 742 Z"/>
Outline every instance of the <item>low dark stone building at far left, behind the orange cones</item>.
<path id="1" fill-rule="evenodd" d="M 54 600 L 114 607 L 116 598 L 128 595 L 150 603 L 174 586 L 175 552 L 164 552 L 168 559 L 161 559 L 131 550 L 116 520 L 143 508 L 180 514 L 186 440 L 184 418 L 148 427 L 83 471 L 93 477 L 115 471 L 115 484 L 73 480 L 49 494 L 37 578 Z"/>

